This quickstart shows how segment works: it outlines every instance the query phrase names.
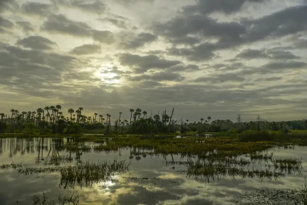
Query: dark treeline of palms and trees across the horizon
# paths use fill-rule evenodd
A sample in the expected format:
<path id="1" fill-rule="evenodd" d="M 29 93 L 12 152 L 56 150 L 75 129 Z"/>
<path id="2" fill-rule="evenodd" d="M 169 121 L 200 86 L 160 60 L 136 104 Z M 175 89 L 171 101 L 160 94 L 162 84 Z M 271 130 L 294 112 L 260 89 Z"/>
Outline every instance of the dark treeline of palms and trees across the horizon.
<path id="1" fill-rule="evenodd" d="M 188 119 L 173 119 L 173 112 L 148 114 L 137 108 L 129 109 L 129 119 L 122 119 L 119 112 L 111 121 L 110 114 L 93 113 L 92 116 L 82 114 L 83 108 L 68 109 L 65 117 L 60 105 L 37 108 L 36 111 L 19 112 L 11 109 L 8 114 L 0 113 L 0 133 L 99 133 L 99 134 L 145 134 L 145 133 L 174 133 L 186 132 L 226 132 L 236 130 L 307 130 L 307 120 L 267 121 L 260 116 L 254 121 L 244 121 L 240 114 L 236 121 L 230 119 L 201 118 L 199 121 Z"/>

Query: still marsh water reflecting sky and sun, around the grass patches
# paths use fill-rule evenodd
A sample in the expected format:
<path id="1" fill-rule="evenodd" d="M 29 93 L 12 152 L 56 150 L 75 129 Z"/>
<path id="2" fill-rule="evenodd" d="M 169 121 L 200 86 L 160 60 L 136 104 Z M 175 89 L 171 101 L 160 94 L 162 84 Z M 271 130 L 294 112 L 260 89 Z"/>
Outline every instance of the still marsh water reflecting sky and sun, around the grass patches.
<path id="1" fill-rule="evenodd" d="M 64 145 L 74 142 L 73 138 L 3 138 L 0 139 L 0 164 L 22 162 L 28 167 L 70 166 L 91 160 L 126 160 L 129 172 L 114 175 L 112 180 L 100 181 L 92 186 L 63 188 L 59 185 L 60 174 L 19 174 L 12 168 L 0 169 L 0 204 L 33 204 L 33 195 L 44 192 L 49 198 L 57 199 L 59 193 L 76 190 L 79 204 L 251 204 L 240 200 L 256 189 L 286 190 L 299 189 L 307 175 L 301 171 L 288 172 L 280 177 L 249 177 L 222 175 L 215 178 L 187 176 L 184 163 L 186 157 L 155 155 L 145 149 L 120 149 L 119 151 L 67 152 Z M 83 142 L 93 147 L 93 142 Z M 307 148 L 274 148 L 274 157 L 302 158 L 302 167 L 307 167 Z M 131 154 L 135 153 L 135 154 Z M 54 156 L 71 156 L 67 161 L 54 161 Z M 246 157 L 246 156 L 242 156 Z M 268 161 L 257 161 L 248 169 L 274 170 Z M 246 168 L 247 169 L 247 168 Z M 264 197 L 265 198 L 265 197 Z M 292 204 L 275 197 L 267 204 Z M 254 204 L 262 204 L 254 203 Z"/>

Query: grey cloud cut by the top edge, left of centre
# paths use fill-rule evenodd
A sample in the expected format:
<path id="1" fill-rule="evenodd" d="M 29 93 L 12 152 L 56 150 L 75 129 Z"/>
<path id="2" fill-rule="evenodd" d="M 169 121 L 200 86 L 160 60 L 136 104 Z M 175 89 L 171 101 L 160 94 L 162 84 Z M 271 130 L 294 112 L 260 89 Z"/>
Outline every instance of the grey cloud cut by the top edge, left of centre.
<path id="1" fill-rule="evenodd" d="M 107 9 L 107 6 L 99 0 L 51 0 L 60 6 L 80 9 L 89 13 L 102 14 Z"/>

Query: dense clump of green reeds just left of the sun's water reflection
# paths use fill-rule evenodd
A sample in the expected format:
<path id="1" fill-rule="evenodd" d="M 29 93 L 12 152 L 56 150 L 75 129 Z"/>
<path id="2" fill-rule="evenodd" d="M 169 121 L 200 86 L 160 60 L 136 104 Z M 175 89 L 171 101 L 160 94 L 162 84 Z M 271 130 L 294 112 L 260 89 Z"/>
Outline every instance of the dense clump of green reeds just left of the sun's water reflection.
<path id="1" fill-rule="evenodd" d="M 60 187 L 91 187 L 93 183 L 112 180 L 114 174 L 124 174 L 129 171 L 130 163 L 125 160 L 101 161 L 93 163 L 85 161 L 60 169 Z"/>

